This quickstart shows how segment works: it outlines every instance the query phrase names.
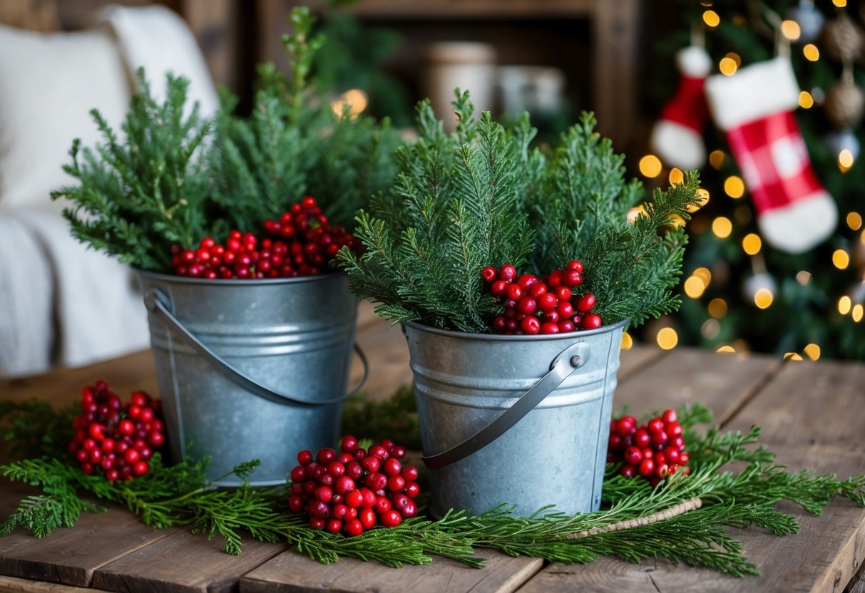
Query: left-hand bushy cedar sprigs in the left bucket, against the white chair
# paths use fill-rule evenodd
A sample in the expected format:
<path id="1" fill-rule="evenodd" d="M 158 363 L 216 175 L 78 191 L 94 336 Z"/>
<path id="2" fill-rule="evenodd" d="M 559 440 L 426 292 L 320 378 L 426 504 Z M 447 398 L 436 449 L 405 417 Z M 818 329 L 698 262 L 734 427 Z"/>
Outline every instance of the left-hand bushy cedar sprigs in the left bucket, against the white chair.
<path id="1" fill-rule="evenodd" d="M 189 81 L 167 76 L 157 103 L 144 69 L 141 92 L 114 131 L 93 110 L 102 142 L 82 148 L 76 139 L 64 170 L 80 182 L 51 193 L 68 200 L 63 215 L 76 239 L 145 270 L 170 270 L 171 247 L 191 247 L 208 230 L 207 175 L 201 158 L 210 125 L 195 104 L 187 110 Z M 189 113 L 187 113 L 187 111 Z"/>

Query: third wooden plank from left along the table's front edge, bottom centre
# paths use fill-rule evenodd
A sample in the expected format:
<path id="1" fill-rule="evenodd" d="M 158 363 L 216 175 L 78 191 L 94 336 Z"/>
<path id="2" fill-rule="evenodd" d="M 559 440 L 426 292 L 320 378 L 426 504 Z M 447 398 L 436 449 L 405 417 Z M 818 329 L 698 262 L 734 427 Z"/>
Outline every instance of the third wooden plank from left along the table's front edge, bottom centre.
<path id="1" fill-rule="evenodd" d="M 402 593 L 403 591 L 489 591 L 517 590 L 541 570 L 538 558 L 511 558 L 482 550 L 488 559 L 477 570 L 454 560 L 436 558 L 432 564 L 403 566 L 399 570 L 375 562 L 345 558 L 326 567 L 295 551 L 285 552 L 247 574 L 240 581 L 243 593 L 322 591 L 333 593 Z"/>

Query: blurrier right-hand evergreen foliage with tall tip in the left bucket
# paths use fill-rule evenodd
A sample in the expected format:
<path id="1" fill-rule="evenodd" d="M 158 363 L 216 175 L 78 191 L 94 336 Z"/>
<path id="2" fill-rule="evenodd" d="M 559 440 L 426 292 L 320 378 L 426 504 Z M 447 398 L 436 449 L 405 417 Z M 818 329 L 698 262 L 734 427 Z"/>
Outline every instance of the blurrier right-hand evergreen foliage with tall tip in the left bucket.
<path id="1" fill-rule="evenodd" d="M 401 141 L 389 120 L 353 114 L 350 105 L 334 112 L 311 78 L 327 45 L 312 35 L 314 23 L 305 7 L 292 10 L 293 33 L 283 38 L 291 72 L 259 67 L 249 118 L 235 117 L 236 99 L 223 93 L 211 176 L 228 226 L 257 227 L 311 194 L 334 224 L 351 227 L 356 210 L 394 179 Z"/>

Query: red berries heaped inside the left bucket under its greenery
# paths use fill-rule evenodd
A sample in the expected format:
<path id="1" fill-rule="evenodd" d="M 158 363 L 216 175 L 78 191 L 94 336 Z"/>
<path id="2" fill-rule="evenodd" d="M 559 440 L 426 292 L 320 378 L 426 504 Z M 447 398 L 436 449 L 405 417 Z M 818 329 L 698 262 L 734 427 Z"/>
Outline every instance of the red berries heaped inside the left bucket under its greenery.
<path id="1" fill-rule="evenodd" d="M 336 252 L 355 239 L 342 226 L 330 226 L 315 198 L 292 204 L 279 220 L 266 220 L 265 235 L 234 230 L 225 245 L 205 237 L 194 250 L 175 246 L 171 265 L 178 276 L 278 278 L 311 276 L 327 271 Z"/>

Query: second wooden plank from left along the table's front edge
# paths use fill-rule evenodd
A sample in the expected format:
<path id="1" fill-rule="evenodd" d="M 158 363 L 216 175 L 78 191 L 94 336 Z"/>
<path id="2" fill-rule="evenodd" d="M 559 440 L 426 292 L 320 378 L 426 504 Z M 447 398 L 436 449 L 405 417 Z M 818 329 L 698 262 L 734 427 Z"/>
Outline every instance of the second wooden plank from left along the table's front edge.
<path id="1" fill-rule="evenodd" d="M 216 537 L 178 531 L 138 552 L 106 564 L 93 575 L 93 586 L 110 591 L 233 591 L 247 572 L 285 550 L 248 537 L 243 552 L 222 552 Z"/>

